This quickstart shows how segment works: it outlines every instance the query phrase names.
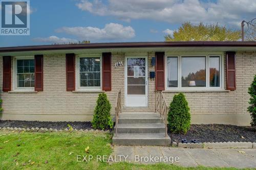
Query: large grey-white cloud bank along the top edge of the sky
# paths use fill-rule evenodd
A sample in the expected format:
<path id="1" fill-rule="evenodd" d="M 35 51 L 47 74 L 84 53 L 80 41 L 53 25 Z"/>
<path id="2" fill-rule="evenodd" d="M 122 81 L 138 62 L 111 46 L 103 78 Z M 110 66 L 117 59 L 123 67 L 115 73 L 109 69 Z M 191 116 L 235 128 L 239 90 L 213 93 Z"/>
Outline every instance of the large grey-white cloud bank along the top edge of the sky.
<path id="1" fill-rule="evenodd" d="M 89 11 L 99 16 L 116 16 L 121 20 L 154 19 L 170 23 L 191 21 L 198 23 L 219 22 L 237 27 L 237 22 L 255 17 L 256 1 L 217 0 L 80 0 L 76 6 L 82 11 Z M 235 24 L 234 24 L 235 23 Z"/>

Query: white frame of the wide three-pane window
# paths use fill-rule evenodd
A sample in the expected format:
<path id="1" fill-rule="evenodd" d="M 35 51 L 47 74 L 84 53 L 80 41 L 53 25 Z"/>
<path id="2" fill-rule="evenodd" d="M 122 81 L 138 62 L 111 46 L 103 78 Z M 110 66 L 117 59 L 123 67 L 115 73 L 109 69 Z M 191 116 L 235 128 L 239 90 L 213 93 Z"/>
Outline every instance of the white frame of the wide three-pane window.
<path id="1" fill-rule="evenodd" d="M 168 87 L 167 78 L 167 58 L 168 57 L 177 57 L 178 58 L 178 87 Z M 206 69 L 206 86 L 205 87 L 182 87 L 181 86 L 181 58 L 182 57 L 205 57 L 205 69 Z M 209 83 L 209 57 L 220 57 L 220 87 L 210 87 Z M 224 90 L 224 57 L 223 54 L 181 54 L 181 55 L 165 55 L 165 90 L 172 90 L 172 91 L 214 91 L 214 90 Z"/>

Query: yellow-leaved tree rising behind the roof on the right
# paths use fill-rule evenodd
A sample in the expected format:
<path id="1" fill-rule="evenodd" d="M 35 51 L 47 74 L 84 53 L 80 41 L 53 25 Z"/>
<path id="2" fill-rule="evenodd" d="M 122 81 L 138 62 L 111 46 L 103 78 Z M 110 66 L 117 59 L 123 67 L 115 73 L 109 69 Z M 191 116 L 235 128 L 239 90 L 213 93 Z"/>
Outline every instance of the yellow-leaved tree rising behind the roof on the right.
<path id="1" fill-rule="evenodd" d="M 165 41 L 237 41 L 241 39 L 240 30 L 227 29 L 225 26 L 193 25 L 191 22 L 184 22 L 175 30 L 173 35 L 164 36 Z"/>

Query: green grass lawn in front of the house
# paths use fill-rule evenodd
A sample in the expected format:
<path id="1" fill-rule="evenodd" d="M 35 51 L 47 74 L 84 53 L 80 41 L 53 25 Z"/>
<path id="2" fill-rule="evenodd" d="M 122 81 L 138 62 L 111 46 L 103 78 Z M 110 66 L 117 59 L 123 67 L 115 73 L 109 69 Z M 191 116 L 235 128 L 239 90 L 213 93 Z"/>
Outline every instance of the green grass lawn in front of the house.
<path id="1" fill-rule="evenodd" d="M 89 147 L 89 153 L 85 149 Z M 184 168 L 172 164 L 142 165 L 97 162 L 96 155 L 110 155 L 111 135 L 102 133 L 30 133 L 0 131 L 0 169 L 234 169 Z M 77 162 L 77 155 L 92 155 Z"/>

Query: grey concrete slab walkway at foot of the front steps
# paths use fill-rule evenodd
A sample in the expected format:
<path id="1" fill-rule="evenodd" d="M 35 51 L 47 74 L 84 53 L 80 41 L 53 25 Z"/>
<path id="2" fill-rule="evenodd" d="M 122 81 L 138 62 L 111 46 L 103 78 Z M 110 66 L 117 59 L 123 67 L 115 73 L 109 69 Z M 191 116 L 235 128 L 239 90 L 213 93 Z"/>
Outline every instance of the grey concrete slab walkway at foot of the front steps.
<path id="1" fill-rule="evenodd" d="M 157 146 L 115 146 L 118 161 L 173 163 L 180 166 L 256 168 L 256 149 L 184 149 Z"/>

